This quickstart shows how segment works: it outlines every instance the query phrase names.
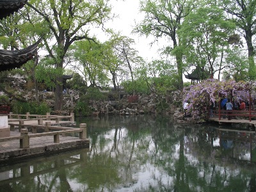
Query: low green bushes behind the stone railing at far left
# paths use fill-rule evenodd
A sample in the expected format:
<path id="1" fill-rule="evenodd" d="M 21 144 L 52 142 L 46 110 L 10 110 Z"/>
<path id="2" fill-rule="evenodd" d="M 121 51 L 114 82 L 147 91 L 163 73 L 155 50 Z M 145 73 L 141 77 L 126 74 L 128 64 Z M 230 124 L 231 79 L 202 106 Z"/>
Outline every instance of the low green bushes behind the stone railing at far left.
<path id="1" fill-rule="evenodd" d="M 44 102 L 12 102 L 12 111 L 15 114 L 26 114 L 29 112 L 31 115 L 45 115 L 50 113 L 51 109 Z"/>

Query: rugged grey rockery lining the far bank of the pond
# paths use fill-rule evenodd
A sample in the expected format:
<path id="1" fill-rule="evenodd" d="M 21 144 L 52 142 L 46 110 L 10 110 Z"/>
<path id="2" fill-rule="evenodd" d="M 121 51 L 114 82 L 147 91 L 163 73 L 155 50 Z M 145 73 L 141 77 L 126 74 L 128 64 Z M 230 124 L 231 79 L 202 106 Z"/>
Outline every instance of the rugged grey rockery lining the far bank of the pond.
<path id="1" fill-rule="evenodd" d="M 15 95 L 24 95 L 25 100 L 35 100 L 35 92 L 33 90 L 26 91 L 26 81 L 13 81 L 12 87 L 17 91 Z M 50 108 L 54 107 L 54 93 L 39 92 L 38 97 L 40 101 L 44 101 Z M 63 97 L 63 110 L 52 111 L 52 115 L 69 115 L 74 113 L 76 104 L 79 101 L 81 94 L 76 90 L 68 90 Z M 90 100 L 89 109 L 91 115 L 136 115 L 136 114 L 163 114 L 173 115 L 177 122 L 183 123 L 188 120 L 184 119 L 184 111 L 179 108 L 182 104 L 182 94 L 180 92 L 170 92 L 159 97 L 154 93 L 150 95 L 138 95 L 135 100 L 129 100 L 131 95 L 124 95 L 120 100 L 109 102 Z M 77 114 L 76 114 L 77 115 Z M 189 118 L 190 120 L 191 118 Z"/>

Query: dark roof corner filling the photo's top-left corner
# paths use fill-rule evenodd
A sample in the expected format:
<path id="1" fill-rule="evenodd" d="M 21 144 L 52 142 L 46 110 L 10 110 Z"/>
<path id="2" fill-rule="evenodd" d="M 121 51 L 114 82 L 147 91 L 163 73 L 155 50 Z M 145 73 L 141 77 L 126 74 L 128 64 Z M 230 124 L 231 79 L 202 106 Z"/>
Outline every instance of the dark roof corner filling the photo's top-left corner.
<path id="1" fill-rule="evenodd" d="M 27 1 L 28 0 L 0 0 L 0 19 L 4 19 L 14 12 L 18 12 Z"/>

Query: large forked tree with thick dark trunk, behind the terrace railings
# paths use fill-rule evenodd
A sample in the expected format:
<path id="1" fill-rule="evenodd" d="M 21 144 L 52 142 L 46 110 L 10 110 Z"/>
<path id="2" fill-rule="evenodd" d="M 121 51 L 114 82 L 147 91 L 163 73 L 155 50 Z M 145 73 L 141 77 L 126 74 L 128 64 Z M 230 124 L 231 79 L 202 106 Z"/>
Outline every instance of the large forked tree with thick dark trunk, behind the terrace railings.
<path id="1" fill-rule="evenodd" d="M 29 17 L 41 17 L 50 29 L 51 38 L 44 38 L 45 49 L 54 68 L 63 70 L 63 63 L 70 45 L 79 40 L 93 40 L 90 28 L 100 26 L 111 19 L 109 0 L 35 0 L 31 4 Z M 63 78 L 56 76 L 55 110 L 62 108 Z"/>

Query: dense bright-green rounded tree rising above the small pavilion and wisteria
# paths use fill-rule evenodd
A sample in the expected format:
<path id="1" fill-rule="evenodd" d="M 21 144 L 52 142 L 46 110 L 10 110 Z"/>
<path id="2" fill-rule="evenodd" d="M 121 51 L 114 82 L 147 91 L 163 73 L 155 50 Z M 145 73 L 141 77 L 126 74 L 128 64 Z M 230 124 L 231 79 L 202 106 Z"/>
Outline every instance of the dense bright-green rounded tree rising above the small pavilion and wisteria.
<path id="1" fill-rule="evenodd" d="M 228 37 L 235 27 L 215 5 L 202 4 L 195 12 L 189 13 L 178 31 L 188 67 L 207 70 L 212 77 L 219 71 L 220 78 L 221 70 L 226 67 L 223 57 L 230 51 Z"/>

